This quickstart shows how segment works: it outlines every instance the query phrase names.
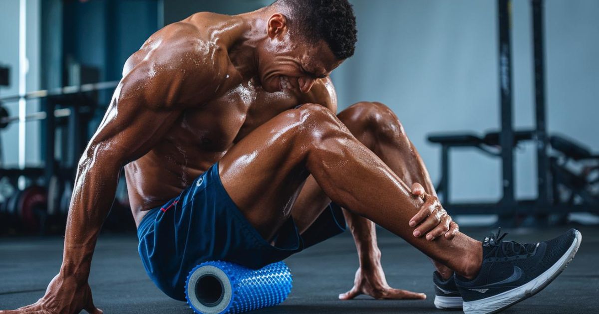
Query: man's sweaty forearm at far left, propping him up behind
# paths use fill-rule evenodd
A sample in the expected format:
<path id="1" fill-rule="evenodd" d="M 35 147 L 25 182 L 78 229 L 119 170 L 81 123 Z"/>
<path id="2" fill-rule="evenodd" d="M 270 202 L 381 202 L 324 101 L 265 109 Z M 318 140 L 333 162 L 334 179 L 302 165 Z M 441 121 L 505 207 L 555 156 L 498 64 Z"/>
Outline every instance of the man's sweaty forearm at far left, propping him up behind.
<path id="1" fill-rule="evenodd" d="M 119 167 L 112 162 L 82 160 L 66 220 L 60 273 L 86 281 L 99 231 L 110 212 Z"/>

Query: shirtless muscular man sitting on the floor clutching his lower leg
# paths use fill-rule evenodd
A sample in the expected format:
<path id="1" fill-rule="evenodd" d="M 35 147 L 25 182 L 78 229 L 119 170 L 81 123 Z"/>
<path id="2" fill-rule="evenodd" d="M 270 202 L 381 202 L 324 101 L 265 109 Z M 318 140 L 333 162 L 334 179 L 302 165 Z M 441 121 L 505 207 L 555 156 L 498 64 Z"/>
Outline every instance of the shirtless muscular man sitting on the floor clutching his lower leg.
<path id="1" fill-rule="evenodd" d="M 127 60 L 78 164 L 59 274 L 37 303 L 2 313 L 101 313 L 87 279 L 123 166 L 144 267 L 179 300 L 196 264 L 283 260 L 343 231 L 340 208 L 360 260 L 342 299 L 425 297 L 386 283 L 374 223 L 435 261 L 435 285 L 450 292 L 439 307 L 464 298 L 465 312 L 492 312 L 547 285 L 573 258 L 578 231 L 534 244 L 473 240 L 439 205 L 389 108 L 361 102 L 335 115 L 329 74 L 355 42 L 347 0 L 197 13 L 152 35 Z"/>

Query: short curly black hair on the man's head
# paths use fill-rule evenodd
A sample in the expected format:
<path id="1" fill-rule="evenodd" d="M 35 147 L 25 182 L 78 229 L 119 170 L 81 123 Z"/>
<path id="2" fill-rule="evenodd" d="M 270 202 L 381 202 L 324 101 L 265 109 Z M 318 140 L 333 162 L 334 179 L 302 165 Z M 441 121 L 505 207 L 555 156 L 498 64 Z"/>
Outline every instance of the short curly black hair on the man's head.
<path id="1" fill-rule="evenodd" d="M 353 56 L 358 41 L 356 17 L 347 0 L 277 0 L 291 12 L 291 24 L 296 24 L 305 38 L 324 40 L 339 60 Z"/>

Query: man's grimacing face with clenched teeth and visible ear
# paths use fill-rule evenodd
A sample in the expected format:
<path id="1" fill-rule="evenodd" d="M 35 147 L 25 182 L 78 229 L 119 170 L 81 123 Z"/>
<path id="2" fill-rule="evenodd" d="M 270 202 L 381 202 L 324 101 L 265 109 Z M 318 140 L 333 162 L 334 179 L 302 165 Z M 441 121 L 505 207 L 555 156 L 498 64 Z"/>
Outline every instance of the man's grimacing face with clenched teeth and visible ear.
<path id="1" fill-rule="evenodd" d="M 282 14 L 271 16 L 268 25 L 268 39 L 258 49 L 258 76 L 269 93 L 307 93 L 315 80 L 327 77 L 343 62 L 337 60 L 325 41 L 313 43 L 303 34 L 289 32 Z"/>

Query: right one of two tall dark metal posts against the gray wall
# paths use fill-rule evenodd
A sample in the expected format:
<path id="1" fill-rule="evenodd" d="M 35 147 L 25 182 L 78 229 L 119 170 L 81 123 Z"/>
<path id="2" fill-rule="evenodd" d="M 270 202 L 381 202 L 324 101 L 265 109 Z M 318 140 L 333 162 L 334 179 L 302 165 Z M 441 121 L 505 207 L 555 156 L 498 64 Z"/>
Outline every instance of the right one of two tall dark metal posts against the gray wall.
<path id="1" fill-rule="evenodd" d="M 545 71 L 544 71 L 544 43 L 543 43 L 543 0 L 532 0 L 533 11 L 533 66 L 534 66 L 534 99 L 536 115 L 536 143 L 537 143 L 537 210 L 542 210 L 549 205 L 549 186 L 547 172 L 547 126 L 545 123 Z"/>

